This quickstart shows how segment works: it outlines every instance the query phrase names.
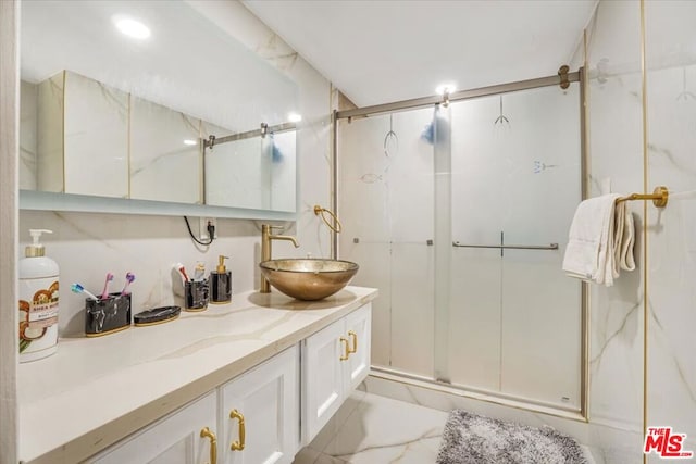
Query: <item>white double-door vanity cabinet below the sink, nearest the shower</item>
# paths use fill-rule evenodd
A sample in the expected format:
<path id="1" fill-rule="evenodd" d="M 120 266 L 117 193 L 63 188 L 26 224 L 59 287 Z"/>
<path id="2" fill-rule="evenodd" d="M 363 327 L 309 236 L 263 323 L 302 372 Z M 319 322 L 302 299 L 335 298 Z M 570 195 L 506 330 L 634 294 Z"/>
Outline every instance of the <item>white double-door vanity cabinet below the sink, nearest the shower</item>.
<path id="1" fill-rule="evenodd" d="M 370 371 L 372 305 L 364 306 L 302 342 L 302 444 L 338 411 Z"/>

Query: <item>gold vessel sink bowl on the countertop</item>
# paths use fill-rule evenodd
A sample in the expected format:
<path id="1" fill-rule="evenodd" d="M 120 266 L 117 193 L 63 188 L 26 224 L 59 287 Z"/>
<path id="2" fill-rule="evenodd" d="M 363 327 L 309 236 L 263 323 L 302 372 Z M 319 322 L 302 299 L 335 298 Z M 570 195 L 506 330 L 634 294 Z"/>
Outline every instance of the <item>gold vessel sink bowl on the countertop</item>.
<path id="1" fill-rule="evenodd" d="M 298 300 L 315 301 L 331 297 L 348 285 L 358 264 L 341 260 L 269 260 L 259 264 L 273 287 Z"/>

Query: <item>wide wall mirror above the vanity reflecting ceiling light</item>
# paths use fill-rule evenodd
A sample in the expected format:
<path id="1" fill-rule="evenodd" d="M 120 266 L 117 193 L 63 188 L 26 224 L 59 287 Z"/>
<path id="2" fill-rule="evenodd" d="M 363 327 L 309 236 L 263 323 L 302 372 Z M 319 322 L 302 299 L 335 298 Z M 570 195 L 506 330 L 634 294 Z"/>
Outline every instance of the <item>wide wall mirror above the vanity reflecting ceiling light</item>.
<path id="1" fill-rule="evenodd" d="M 296 210 L 297 86 L 209 14 L 186 1 L 22 2 L 22 208 Z"/>

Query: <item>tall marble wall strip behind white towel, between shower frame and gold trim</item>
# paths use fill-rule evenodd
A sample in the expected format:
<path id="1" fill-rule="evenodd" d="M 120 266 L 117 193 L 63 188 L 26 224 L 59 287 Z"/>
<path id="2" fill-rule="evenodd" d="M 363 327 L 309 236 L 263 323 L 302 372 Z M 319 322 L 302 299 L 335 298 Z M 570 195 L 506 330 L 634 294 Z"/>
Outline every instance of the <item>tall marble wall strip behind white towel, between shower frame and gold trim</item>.
<path id="1" fill-rule="evenodd" d="M 602 3 L 589 43 L 591 67 L 601 73 L 588 81 L 591 196 L 642 191 L 642 116 L 639 42 L 623 43 L 619 36 L 639 39 L 637 5 Z M 609 33 L 609 29 L 614 33 Z M 591 286 L 589 417 L 627 431 L 642 430 L 643 404 L 643 286 L 641 278 L 642 205 L 630 204 L 635 220 L 636 272 L 622 273 L 611 288 Z M 630 448 L 604 441 L 606 447 Z M 641 447 L 641 441 L 632 444 Z M 609 451 L 608 451 L 609 452 Z"/>

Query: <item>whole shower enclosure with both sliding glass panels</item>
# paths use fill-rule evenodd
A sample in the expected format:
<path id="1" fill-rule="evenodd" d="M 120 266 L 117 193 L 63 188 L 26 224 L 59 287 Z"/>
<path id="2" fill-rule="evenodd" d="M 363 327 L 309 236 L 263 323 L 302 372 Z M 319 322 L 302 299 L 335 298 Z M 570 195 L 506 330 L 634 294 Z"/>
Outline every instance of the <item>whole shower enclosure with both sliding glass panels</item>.
<path id="1" fill-rule="evenodd" d="M 583 412 L 584 289 L 561 271 L 581 85 L 464 93 L 337 113 L 338 256 L 380 289 L 373 366 Z"/>

